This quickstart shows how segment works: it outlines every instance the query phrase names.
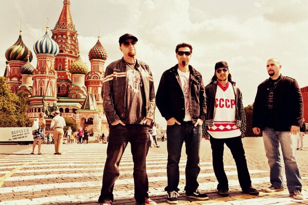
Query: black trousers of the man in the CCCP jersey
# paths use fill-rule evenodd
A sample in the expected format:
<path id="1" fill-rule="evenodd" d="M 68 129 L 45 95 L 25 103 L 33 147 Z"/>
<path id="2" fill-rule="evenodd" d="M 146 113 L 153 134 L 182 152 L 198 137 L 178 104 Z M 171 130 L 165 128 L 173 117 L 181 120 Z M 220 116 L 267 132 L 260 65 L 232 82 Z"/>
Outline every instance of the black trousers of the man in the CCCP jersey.
<path id="1" fill-rule="evenodd" d="M 237 165 L 240 186 L 242 190 L 247 190 L 251 186 L 251 180 L 241 136 L 225 139 L 216 139 L 211 136 L 210 142 L 213 156 L 213 169 L 218 180 L 217 189 L 229 190 L 228 178 L 224 170 L 223 162 L 224 144 L 226 144 L 232 153 L 235 164 Z"/>

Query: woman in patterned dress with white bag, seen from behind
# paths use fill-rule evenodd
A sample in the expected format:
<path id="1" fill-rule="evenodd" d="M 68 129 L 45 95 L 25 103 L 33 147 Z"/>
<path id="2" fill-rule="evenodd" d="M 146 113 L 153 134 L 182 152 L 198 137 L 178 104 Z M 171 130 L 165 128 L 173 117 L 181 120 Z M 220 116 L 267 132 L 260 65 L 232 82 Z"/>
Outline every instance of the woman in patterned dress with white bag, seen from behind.
<path id="1" fill-rule="evenodd" d="M 42 145 L 42 139 L 45 135 L 45 128 L 46 128 L 46 121 L 44 119 L 44 113 L 40 113 L 39 118 L 35 119 L 33 124 L 37 124 L 38 129 L 33 131 L 33 145 L 32 145 L 32 152 L 31 154 L 34 154 L 35 146 L 37 145 L 37 141 L 39 141 L 38 145 L 38 154 L 41 153 L 41 145 Z"/>

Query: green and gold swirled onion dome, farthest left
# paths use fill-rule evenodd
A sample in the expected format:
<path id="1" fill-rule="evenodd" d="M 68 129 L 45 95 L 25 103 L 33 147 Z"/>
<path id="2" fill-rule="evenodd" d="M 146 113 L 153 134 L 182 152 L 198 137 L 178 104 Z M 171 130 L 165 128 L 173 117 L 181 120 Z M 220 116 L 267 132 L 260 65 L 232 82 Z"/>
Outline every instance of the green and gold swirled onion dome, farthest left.
<path id="1" fill-rule="evenodd" d="M 5 57 L 8 61 L 10 60 L 21 60 L 27 61 L 27 56 L 29 55 L 30 62 L 32 61 L 33 55 L 32 52 L 25 46 L 22 35 L 19 35 L 19 38 L 13 46 L 8 48 L 5 52 Z"/>

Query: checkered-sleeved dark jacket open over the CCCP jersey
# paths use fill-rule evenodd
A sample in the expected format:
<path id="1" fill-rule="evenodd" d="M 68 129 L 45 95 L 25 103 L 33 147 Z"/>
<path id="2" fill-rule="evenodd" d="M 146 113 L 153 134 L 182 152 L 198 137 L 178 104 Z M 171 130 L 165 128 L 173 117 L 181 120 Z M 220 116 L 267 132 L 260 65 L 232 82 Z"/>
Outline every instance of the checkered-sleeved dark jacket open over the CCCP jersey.
<path id="1" fill-rule="evenodd" d="M 245 136 L 246 131 L 246 115 L 245 110 L 243 106 L 243 97 L 241 90 L 235 86 L 234 82 L 230 82 L 234 91 L 235 96 L 235 119 L 237 120 L 237 126 L 241 130 L 241 136 Z M 206 119 L 204 120 L 202 124 L 202 136 L 209 136 L 209 133 L 207 132 L 208 126 L 214 125 L 214 108 L 215 108 L 215 96 L 216 96 L 216 90 L 217 90 L 217 81 L 213 81 L 213 83 L 210 83 L 205 87 L 205 93 L 206 93 L 206 103 L 207 103 L 207 109 L 206 109 Z"/>

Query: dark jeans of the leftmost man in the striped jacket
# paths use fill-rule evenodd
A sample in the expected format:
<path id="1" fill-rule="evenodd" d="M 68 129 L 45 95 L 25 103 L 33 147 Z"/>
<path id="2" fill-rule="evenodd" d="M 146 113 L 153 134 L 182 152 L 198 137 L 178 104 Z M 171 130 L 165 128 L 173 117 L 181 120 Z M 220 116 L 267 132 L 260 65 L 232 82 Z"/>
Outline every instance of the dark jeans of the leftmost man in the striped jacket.
<path id="1" fill-rule="evenodd" d="M 114 200 L 112 192 L 120 174 L 120 160 L 128 142 L 130 142 L 134 162 L 135 199 L 137 202 L 143 203 L 144 198 L 149 198 L 149 182 L 146 171 L 146 157 L 150 144 L 149 127 L 131 124 L 110 126 L 108 139 L 103 185 L 98 202 L 102 203 L 105 199 Z"/>

